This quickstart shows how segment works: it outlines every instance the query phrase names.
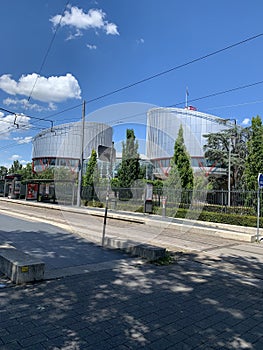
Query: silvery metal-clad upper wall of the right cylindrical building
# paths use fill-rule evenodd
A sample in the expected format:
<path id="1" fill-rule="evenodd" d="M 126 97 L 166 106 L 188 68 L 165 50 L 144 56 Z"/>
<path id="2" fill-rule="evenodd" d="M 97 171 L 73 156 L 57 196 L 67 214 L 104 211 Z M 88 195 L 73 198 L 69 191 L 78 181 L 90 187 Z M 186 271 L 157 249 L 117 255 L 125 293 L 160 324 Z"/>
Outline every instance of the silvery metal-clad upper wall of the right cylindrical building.
<path id="1" fill-rule="evenodd" d="M 188 108 L 153 108 L 147 113 L 146 156 L 157 172 L 167 175 L 180 126 L 184 144 L 196 170 L 204 158 L 204 135 L 227 129 L 226 119 Z M 205 165 L 204 165 L 205 166 Z"/>

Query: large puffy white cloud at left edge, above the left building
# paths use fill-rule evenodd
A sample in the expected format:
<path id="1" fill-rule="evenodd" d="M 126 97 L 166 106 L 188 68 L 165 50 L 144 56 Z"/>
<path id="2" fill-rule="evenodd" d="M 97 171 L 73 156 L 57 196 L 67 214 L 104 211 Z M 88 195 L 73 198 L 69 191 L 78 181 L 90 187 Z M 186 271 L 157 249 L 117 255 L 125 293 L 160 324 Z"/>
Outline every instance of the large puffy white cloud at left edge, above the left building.
<path id="1" fill-rule="evenodd" d="M 32 92 L 32 88 L 34 90 Z M 62 102 L 81 98 L 77 79 L 70 73 L 65 76 L 42 77 L 36 73 L 22 75 L 18 82 L 10 74 L 0 76 L 0 89 L 10 95 L 24 95 L 42 102 Z"/>

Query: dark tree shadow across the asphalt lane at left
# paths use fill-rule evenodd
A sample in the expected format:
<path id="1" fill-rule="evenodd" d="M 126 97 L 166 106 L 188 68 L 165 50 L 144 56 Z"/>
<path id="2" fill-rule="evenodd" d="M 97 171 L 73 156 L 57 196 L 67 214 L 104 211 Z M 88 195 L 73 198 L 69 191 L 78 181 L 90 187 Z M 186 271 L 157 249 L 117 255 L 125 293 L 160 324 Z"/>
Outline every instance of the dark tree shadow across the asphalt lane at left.
<path id="1" fill-rule="evenodd" d="M 0 231 L 1 244 L 9 244 L 43 261 L 47 271 L 122 259 L 121 252 L 102 250 L 98 245 L 48 225 L 49 231 Z"/>

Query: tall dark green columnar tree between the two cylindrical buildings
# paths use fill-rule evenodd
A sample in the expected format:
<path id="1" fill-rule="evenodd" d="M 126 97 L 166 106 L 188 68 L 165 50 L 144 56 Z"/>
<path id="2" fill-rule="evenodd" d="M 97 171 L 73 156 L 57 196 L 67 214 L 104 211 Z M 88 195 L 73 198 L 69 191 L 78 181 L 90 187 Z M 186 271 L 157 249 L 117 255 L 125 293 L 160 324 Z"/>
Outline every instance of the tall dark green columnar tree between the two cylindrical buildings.
<path id="1" fill-rule="evenodd" d="M 127 129 L 126 142 L 122 143 L 122 162 L 117 173 L 119 185 L 123 188 L 119 192 L 120 199 L 132 198 L 130 187 L 140 177 L 139 145 L 135 139 L 134 130 Z"/>

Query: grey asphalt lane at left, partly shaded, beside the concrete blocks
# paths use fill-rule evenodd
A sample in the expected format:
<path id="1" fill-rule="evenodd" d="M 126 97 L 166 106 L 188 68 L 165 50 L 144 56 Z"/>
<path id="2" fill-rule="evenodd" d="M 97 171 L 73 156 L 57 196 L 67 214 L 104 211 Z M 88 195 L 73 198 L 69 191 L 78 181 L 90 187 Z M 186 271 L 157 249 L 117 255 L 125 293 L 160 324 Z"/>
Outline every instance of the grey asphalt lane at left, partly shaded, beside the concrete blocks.
<path id="1" fill-rule="evenodd" d="M 52 271 L 61 275 L 69 268 L 98 266 L 128 258 L 122 252 L 102 249 L 60 227 L 29 220 L 0 214 L 0 244 L 8 243 L 44 261 L 48 276 Z"/>

